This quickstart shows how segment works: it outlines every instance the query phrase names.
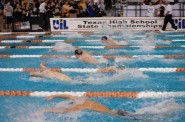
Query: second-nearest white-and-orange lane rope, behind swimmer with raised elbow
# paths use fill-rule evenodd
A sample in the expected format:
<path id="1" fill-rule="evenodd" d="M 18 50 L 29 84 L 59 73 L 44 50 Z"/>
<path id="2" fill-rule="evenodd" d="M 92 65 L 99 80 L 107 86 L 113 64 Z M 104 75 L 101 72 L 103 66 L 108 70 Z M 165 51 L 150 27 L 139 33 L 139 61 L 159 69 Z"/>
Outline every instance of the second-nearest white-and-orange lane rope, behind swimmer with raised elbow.
<path id="1" fill-rule="evenodd" d="M 128 69 L 135 69 L 143 72 L 173 73 L 185 72 L 185 68 L 48 68 L 56 72 L 80 72 L 80 73 L 107 73 Z M 0 68 L 0 72 L 34 72 L 42 71 L 42 68 Z"/>

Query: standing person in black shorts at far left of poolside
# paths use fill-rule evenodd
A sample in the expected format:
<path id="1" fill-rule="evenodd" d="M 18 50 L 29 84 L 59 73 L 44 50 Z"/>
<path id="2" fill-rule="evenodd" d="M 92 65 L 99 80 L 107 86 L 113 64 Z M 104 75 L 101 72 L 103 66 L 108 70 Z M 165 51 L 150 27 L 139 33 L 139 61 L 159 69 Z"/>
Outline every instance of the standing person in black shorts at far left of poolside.
<path id="1" fill-rule="evenodd" d="M 10 2 L 8 1 L 5 8 L 4 13 L 6 17 L 6 29 L 11 29 L 12 22 L 13 22 L 13 7 L 10 5 Z"/>

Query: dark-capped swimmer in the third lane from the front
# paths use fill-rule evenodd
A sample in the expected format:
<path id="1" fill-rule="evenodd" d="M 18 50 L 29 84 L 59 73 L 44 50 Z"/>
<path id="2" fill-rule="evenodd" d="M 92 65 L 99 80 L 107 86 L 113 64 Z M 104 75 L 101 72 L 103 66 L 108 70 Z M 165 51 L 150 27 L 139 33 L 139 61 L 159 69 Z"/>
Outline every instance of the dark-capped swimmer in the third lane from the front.
<path id="1" fill-rule="evenodd" d="M 79 58 L 84 62 L 88 62 L 88 63 L 91 63 L 91 64 L 97 64 L 98 63 L 98 61 L 95 58 L 93 58 L 85 50 L 81 50 L 81 49 L 75 50 L 75 56 L 76 56 L 76 58 Z"/>

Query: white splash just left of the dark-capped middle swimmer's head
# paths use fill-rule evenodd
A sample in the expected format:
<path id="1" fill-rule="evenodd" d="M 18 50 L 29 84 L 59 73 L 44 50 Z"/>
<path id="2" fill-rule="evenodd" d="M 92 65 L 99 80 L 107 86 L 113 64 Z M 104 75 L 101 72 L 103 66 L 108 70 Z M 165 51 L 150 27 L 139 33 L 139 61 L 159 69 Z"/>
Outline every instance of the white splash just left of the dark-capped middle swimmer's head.
<path id="1" fill-rule="evenodd" d="M 57 52 L 66 52 L 66 51 L 68 52 L 68 51 L 74 51 L 75 47 L 64 42 L 57 42 L 55 43 L 53 50 Z"/>

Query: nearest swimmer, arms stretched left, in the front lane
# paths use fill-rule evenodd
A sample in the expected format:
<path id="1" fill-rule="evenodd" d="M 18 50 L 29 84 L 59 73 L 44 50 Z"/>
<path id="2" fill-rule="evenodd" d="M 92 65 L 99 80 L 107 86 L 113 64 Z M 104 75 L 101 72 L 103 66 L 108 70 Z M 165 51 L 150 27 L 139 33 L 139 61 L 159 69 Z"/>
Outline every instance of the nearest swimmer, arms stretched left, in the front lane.
<path id="1" fill-rule="evenodd" d="M 54 98 L 64 98 L 74 101 L 83 100 L 84 97 L 77 97 L 67 94 L 58 94 L 58 95 L 52 95 L 47 97 L 47 100 L 52 100 Z M 96 112 L 102 112 L 107 113 L 111 115 L 118 115 L 118 116 L 129 116 L 130 113 L 123 110 L 111 110 L 107 108 L 106 106 L 102 105 L 101 103 L 85 99 L 82 102 L 76 103 L 75 105 L 71 105 L 68 107 L 55 107 L 47 110 L 43 110 L 42 112 L 52 112 L 52 113 L 70 113 L 70 112 L 76 112 L 76 111 L 82 111 L 82 110 L 93 110 Z"/>

